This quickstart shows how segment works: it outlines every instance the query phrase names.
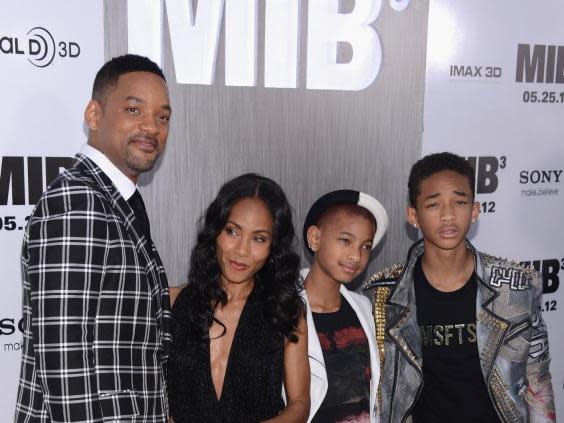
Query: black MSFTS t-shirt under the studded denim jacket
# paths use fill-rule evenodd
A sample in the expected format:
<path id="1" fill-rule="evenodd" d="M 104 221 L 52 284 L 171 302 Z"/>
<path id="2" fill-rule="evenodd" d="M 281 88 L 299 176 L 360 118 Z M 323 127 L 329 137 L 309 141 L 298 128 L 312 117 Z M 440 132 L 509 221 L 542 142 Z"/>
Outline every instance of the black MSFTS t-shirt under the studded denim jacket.
<path id="1" fill-rule="evenodd" d="M 419 257 L 414 283 L 423 341 L 423 390 L 413 410 L 415 423 L 499 423 L 476 343 L 476 274 L 456 291 L 439 291 L 425 277 Z"/>

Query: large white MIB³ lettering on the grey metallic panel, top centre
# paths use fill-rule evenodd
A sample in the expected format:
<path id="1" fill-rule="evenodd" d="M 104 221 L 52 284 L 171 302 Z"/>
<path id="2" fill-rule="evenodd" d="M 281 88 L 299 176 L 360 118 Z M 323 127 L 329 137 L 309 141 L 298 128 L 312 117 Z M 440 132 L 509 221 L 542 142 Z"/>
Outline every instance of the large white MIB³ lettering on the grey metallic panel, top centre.
<path id="1" fill-rule="evenodd" d="M 167 21 L 179 84 L 214 83 L 222 31 L 227 86 L 257 85 L 259 37 L 264 41 L 265 87 L 297 88 L 298 76 L 305 74 L 306 89 L 359 91 L 380 70 L 382 46 L 374 22 L 382 0 L 309 0 L 307 13 L 296 0 L 260 2 L 261 8 L 258 0 L 206 0 L 195 10 L 192 0 L 145 1 L 143 7 L 138 3 L 128 0 L 129 51 L 158 63 Z M 389 0 L 395 11 L 409 3 Z M 307 17 L 307 32 L 302 17 Z M 307 49 L 304 73 L 299 69 L 301 46 Z"/>

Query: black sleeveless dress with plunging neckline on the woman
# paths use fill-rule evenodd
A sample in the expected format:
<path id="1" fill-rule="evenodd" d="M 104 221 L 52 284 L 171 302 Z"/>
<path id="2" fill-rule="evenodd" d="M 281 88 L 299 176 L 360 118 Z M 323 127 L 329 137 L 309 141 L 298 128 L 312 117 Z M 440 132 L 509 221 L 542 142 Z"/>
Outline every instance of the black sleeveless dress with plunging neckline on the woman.
<path id="1" fill-rule="evenodd" d="M 252 423 L 283 408 L 284 337 L 275 333 L 254 290 L 247 299 L 227 361 L 221 398 L 211 377 L 209 342 L 187 327 L 186 287 L 173 309 L 174 343 L 169 358 L 169 404 L 175 423 Z"/>

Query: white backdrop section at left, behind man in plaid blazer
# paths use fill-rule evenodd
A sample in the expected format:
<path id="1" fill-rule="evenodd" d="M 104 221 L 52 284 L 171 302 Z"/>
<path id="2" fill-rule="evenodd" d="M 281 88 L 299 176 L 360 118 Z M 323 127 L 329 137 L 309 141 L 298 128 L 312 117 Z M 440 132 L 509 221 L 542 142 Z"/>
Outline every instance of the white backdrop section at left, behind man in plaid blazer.
<path id="1" fill-rule="evenodd" d="M 27 217 L 86 141 L 83 112 L 104 61 L 103 2 L 0 1 L 0 421 L 14 418 Z"/>

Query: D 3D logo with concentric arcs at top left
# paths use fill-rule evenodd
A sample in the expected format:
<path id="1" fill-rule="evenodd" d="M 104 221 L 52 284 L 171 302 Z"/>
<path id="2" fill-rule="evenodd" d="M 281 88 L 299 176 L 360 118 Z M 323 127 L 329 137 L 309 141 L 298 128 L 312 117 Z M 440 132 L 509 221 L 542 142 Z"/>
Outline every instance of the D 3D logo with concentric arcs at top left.
<path id="1" fill-rule="evenodd" d="M 74 59 L 80 56 L 80 45 L 75 41 L 55 41 L 46 28 L 31 28 L 25 37 L 3 35 L 0 37 L 0 53 L 27 57 L 29 63 L 45 68 L 56 56 Z"/>

